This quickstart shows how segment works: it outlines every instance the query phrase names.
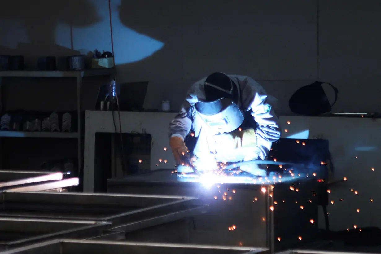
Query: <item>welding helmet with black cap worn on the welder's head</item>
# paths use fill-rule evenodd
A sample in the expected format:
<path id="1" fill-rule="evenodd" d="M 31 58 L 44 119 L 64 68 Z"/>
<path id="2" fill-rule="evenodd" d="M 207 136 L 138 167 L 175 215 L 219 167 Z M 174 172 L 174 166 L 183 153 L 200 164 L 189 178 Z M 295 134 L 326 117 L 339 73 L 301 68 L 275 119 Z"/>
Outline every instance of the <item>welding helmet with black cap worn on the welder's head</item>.
<path id="1" fill-rule="evenodd" d="M 224 73 L 216 72 L 204 83 L 205 101 L 195 104 L 195 111 L 216 133 L 229 133 L 237 129 L 244 117 L 238 107 L 237 84 Z"/>

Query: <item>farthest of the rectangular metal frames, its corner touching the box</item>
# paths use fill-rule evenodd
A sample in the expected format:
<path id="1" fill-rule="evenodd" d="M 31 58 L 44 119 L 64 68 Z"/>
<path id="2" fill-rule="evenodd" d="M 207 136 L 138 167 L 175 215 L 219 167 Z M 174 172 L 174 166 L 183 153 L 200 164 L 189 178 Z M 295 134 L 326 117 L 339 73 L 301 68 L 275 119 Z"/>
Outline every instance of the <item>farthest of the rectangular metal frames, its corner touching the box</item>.
<path id="1" fill-rule="evenodd" d="M 158 216 L 177 211 L 195 215 L 203 211 L 203 206 L 189 197 L 74 192 L 2 192 L 0 208 L 0 216 L 8 217 L 101 220 L 114 224 L 151 219 L 153 225 L 161 223 Z"/>

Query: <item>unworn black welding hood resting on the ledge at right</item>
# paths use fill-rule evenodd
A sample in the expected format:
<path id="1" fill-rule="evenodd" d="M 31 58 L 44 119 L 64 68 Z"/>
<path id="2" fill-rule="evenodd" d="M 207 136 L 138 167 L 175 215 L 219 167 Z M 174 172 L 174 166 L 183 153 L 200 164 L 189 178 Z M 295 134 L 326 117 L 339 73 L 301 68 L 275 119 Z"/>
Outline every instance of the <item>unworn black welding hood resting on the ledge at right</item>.
<path id="1" fill-rule="evenodd" d="M 322 84 L 328 84 L 335 92 L 335 101 L 330 104 L 327 94 Z M 337 101 L 338 89 L 330 83 L 316 81 L 310 85 L 299 88 L 288 101 L 288 105 L 293 113 L 305 116 L 317 116 L 330 112 L 332 106 Z"/>

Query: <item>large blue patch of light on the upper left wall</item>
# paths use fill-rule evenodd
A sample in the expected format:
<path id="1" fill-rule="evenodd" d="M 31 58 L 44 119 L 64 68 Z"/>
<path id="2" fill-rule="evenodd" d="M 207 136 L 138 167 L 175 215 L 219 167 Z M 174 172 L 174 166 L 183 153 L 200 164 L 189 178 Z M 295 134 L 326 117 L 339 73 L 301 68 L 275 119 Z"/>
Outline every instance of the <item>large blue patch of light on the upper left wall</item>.
<path id="1" fill-rule="evenodd" d="M 70 45 L 70 27 L 66 24 L 58 24 L 55 32 L 58 45 L 66 48 L 73 46 L 74 50 L 78 50 L 82 54 L 95 49 L 112 51 L 108 1 L 95 0 L 92 1 L 92 4 L 98 10 L 102 21 L 90 27 L 73 27 L 73 45 Z M 164 43 L 123 26 L 119 19 L 119 5 L 120 0 L 112 0 L 111 19 L 115 64 L 141 61 L 163 48 Z"/>

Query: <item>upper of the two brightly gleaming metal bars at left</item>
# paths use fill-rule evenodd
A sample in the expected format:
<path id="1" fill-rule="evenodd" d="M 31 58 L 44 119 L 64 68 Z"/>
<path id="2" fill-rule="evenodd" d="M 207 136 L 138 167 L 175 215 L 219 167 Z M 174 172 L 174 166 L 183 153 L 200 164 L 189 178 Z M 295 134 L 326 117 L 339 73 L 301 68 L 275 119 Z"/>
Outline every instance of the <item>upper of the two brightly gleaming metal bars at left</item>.
<path id="1" fill-rule="evenodd" d="M 63 174 L 60 172 L 38 172 L 38 171 L 0 171 L 0 189 L 9 189 L 10 186 L 34 184 L 37 182 L 61 180 Z"/>

